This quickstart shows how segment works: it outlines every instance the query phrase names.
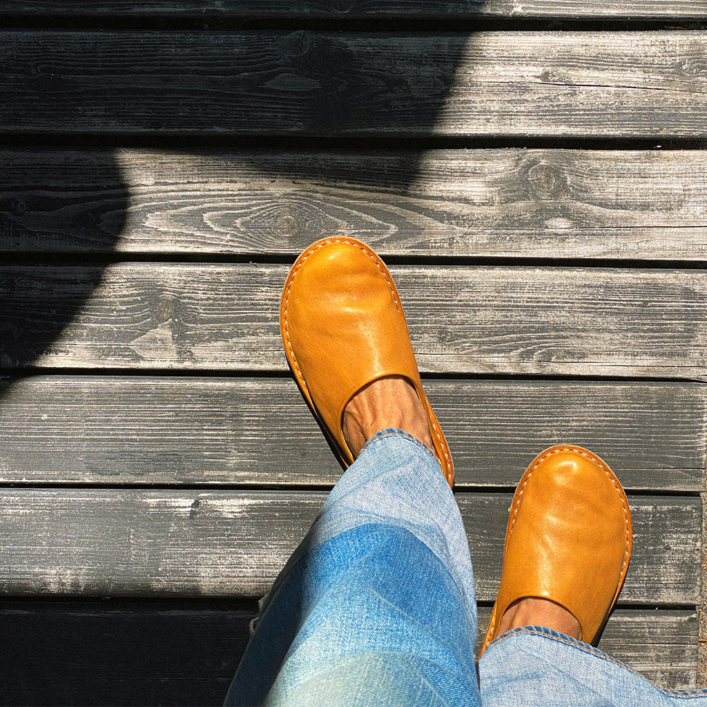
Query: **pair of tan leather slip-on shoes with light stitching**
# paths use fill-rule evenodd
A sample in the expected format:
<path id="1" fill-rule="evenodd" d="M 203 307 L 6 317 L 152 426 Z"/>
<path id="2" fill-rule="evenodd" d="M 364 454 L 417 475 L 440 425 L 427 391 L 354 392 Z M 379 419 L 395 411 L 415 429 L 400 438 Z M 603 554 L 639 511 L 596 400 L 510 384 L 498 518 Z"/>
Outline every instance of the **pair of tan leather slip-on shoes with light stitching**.
<path id="1" fill-rule="evenodd" d="M 352 238 L 310 245 L 285 283 L 280 327 L 300 390 L 344 466 L 354 461 L 341 428 L 358 390 L 388 375 L 407 378 L 426 411 L 434 452 L 450 486 L 447 441 L 423 391 L 400 299 L 382 260 Z M 523 597 L 560 604 L 596 641 L 626 576 L 631 514 L 611 469 L 588 450 L 559 445 L 520 479 L 503 549 L 503 571 L 481 653 L 506 609 Z"/>

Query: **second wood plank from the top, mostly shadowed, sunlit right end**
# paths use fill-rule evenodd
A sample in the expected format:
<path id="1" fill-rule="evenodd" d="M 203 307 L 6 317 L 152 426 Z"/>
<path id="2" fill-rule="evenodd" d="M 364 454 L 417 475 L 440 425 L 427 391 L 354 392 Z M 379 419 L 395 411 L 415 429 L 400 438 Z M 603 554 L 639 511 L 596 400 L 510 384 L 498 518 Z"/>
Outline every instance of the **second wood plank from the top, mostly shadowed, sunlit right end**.
<path id="1" fill-rule="evenodd" d="M 707 136 L 701 32 L 12 32 L 0 46 L 12 132 Z"/>

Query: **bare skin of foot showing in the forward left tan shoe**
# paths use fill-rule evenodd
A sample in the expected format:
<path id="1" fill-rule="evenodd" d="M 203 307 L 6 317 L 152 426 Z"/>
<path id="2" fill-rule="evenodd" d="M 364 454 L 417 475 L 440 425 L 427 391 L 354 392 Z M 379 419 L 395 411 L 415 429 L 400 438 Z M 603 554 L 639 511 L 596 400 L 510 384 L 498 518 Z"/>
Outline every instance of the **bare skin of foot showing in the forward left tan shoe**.
<path id="1" fill-rule="evenodd" d="M 354 459 L 375 433 L 391 427 L 432 448 L 425 409 L 414 387 L 400 375 L 378 378 L 363 386 L 346 403 L 341 418 L 344 440 Z"/>

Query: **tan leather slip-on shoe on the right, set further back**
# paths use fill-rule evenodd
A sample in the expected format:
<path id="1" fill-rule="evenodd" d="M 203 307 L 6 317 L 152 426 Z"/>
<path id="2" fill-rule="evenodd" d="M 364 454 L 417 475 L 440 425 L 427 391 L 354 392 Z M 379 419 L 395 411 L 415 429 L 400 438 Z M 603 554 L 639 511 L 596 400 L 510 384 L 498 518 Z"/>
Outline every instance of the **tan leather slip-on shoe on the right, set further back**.
<path id="1" fill-rule="evenodd" d="M 513 496 L 481 653 L 506 609 L 524 597 L 560 604 L 578 620 L 582 640 L 595 641 L 624 583 L 632 542 L 629 503 L 607 464 L 572 445 L 542 452 Z"/>

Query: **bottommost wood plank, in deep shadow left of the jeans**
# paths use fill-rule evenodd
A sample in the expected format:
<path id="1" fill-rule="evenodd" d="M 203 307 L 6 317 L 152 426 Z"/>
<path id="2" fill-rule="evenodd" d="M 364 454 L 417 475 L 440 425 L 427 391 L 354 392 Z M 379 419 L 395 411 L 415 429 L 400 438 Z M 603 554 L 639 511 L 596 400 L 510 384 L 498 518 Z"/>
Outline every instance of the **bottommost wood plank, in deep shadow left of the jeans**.
<path id="1" fill-rule="evenodd" d="M 191 603 L 2 602 L 0 621 L 13 636 L 0 674 L 3 703 L 220 703 L 253 614 Z M 490 614 L 479 609 L 479 633 Z M 600 648 L 665 688 L 693 689 L 696 636 L 695 612 L 617 609 Z"/>

